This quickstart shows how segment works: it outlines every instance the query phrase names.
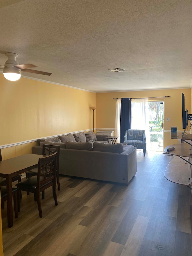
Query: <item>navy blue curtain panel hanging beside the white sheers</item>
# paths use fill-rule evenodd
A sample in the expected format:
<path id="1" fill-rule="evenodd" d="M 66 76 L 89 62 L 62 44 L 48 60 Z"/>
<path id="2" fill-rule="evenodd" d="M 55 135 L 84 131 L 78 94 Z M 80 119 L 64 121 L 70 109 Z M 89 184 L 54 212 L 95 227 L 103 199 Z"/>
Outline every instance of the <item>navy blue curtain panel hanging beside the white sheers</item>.
<path id="1" fill-rule="evenodd" d="M 120 143 L 123 143 L 125 131 L 131 129 L 131 98 L 121 99 Z"/>

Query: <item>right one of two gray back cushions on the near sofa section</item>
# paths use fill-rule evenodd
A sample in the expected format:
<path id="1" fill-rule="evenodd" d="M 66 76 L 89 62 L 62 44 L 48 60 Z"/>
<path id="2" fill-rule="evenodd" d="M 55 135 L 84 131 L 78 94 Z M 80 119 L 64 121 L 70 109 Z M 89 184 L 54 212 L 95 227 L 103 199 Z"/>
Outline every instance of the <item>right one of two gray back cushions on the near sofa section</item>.
<path id="1" fill-rule="evenodd" d="M 111 152 L 121 154 L 123 152 L 122 144 L 93 143 L 93 151 Z"/>

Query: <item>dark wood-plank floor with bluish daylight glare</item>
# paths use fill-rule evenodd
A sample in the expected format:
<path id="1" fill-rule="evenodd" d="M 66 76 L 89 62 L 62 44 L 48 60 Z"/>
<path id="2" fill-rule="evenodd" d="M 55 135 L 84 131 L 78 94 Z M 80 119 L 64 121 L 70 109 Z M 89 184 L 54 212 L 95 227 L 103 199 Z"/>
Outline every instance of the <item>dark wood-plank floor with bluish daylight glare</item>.
<path id="1" fill-rule="evenodd" d="M 4 256 L 191 256 L 191 190 L 164 178 L 172 158 L 137 151 L 128 187 L 60 176 L 58 206 L 46 189 L 43 218 L 23 192 L 12 228 L 2 210 Z"/>

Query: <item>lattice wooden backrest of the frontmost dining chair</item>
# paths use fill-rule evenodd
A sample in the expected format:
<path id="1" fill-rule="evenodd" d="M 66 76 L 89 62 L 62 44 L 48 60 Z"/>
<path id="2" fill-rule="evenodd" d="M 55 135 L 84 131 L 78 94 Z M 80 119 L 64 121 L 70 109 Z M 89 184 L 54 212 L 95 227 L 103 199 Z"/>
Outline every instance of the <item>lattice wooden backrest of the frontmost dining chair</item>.
<path id="1" fill-rule="evenodd" d="M 42 185 L 55 182 L 56 177 L 57 153 L 39 158 L 37 189 Z"/>

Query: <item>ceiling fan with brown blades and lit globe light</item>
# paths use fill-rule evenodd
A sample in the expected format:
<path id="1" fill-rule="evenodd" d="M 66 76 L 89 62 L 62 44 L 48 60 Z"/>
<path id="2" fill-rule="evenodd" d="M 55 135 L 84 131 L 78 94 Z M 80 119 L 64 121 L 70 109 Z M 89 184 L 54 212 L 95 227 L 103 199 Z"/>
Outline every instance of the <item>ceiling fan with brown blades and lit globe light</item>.
<path id="1" fill-rule="evenodd" d="M 43 72 L 39 70 L 29 69 L 29 68 L 37 67 L 33 64 L 19 65 L 19 63 L 16 61 L 16 58 L 18 57 L 18 54 L 16 53 L 5 53 L 5 56 L 7 56 L 8 60 L 5 62 L 5 65 L 2 67 L 3 67 L 3 75 L 7 80 L 10 80 L 10 81 L 18 80 L 21 77 L 21 71 L 40 74 L 40 75 L 46 75 L 46 76 L 50 76 L 52 74 L 52 73 Z"/>

